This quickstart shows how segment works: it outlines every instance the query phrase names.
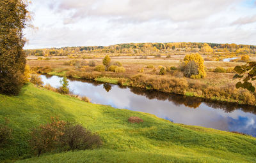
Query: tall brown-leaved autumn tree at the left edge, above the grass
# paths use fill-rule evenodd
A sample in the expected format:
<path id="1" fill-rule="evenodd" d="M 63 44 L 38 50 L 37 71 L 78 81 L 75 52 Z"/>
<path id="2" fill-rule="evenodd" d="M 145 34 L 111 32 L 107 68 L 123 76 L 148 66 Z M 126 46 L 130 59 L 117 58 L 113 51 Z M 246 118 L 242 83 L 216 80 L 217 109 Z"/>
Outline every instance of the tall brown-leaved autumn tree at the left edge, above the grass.
<path id="1" fill-rule="evenodd" d="M 26 55 L 22 29 L 28 20 L 24 0 L 0 1 L 0 93 L 17 95 L 24 83 Z"/>

